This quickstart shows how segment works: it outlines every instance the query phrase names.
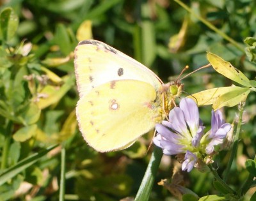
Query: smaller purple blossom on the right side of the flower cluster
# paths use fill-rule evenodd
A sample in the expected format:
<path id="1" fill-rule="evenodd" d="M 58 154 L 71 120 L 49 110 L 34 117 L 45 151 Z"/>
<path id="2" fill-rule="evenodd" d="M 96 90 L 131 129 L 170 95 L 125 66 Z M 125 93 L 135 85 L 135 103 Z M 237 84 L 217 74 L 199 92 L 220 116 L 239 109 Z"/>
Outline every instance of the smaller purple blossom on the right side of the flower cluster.
<path id="1" fill-rule="evenodd" d="M 206 133 L 208 144 L 205 148 L 205 153 L 213 153 L 214 146 L 223 143 L 223 138 L 226 137 L 230 129 L 231 125 L 225 123 L 220 110 L 216 110 L 216 112 L 212 110 L 211 130 Z"/>

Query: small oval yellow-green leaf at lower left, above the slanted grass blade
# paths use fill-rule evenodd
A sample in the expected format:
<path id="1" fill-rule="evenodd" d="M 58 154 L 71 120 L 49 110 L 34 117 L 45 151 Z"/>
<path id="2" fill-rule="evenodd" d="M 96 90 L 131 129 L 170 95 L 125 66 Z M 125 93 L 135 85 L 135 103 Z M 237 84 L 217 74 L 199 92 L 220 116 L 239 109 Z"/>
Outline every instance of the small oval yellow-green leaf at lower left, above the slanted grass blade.
<path id="1" fill-rule="evenodd" d="M 13 139 L 17 142 L 24 142 L 35 135 L 37 129 L 36 124 L 32 124 L 30 126 L 24 126 L 20 128 L 16 133 L 13 135 Z"/>

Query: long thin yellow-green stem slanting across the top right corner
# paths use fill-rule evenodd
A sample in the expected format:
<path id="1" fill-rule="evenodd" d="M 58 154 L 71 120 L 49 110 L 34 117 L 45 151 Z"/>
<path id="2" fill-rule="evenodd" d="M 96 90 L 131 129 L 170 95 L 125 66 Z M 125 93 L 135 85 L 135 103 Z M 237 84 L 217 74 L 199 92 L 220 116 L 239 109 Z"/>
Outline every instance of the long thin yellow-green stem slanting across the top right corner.
<path id="1" fill-rule="evenodd" d="M 239 50 L 241 50 L 241 52 L 244 53 L 244 48 L 241 47 L 241 45 L 239 45 L 239 43 L 237 43 L 235 40 L 233 40 L 232 38 L 230 38 L 227 34 L 223 33 L 222 31 L 220 31 L 218 28 L 216 28 L 215 26 L 213 26 L 210 22 L 208 22 L 207 20 L 205 20 L 204 18 L 200 17 L 199 15 L 197 15 L 193 10 L 191 10 L 191 8 L 189 8 L 186 4 L 182 3 L 179 0 L 174 0 L 176 3 L 178 3 L 180 6 L 182 6 L 182 8 L 184 8 L 185 10 L 187 10 L 189 13 L 191 13 L 192 15 L 194 15 L 197 19 L 199 19 L 201 22 L 203 22 L 205 24 L 205 26 L 209 27 L 210 29 L 212 29 L 213 31 L 215 31 L 216 33 L 218 33 L 221 37 L 223 37 L 225 40 L 229 41 L 230 43 L 232 43 L 235 47 L 237 47 Z"/>

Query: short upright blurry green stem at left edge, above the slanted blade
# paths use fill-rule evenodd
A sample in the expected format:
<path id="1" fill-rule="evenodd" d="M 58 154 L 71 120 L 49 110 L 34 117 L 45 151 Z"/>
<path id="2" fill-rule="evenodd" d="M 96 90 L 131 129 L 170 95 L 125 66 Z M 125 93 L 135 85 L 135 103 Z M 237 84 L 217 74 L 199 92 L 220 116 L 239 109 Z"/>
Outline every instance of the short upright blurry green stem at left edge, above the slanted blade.
<path id="1" fill-rule="evenodd" d="M 1 160 L 1 170 L 4 170 L 7 167 L 8 153 L 10 149 L 11 140 L 12 140 L 12 121 L 8 120 L 8 123 L 6 125 L 4 147 L 3 147 L 3 154 L 2 154 L 2 160 Z"/>

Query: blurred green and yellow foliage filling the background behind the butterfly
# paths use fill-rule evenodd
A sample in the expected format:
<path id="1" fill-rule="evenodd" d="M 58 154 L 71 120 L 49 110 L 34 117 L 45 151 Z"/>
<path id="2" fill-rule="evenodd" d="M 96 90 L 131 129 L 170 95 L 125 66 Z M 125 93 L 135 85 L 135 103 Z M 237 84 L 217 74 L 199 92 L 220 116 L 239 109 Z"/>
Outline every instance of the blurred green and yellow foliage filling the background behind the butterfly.
<path id="1" fill-rule="evenodd" d="M 150 158 L 147 148 L 153 133 L 125 151 L 100 154 L 86 145 L 77 128 L 73 52 L 77 29 L 85 20 L 90 20 L 83 29 L 85 34 L 92 32 L 93 39 L 134 57 L 164 82 L 175 80 L 186 65 L 193 71 L 207 64 L 206 51 L 230 61 L 250 80 L 255 79 L 255 63 L 244 50 L 244 39 L 255 37 L 255 1 L 185 3 L 235 43 L 175 1 L 1 1 L 0 173 L 4 177 L 0 200 L 58 200 L 63 189 L 65 200 L 120 200 L 134 197 L 138 191 Z M 182 96 L 232 84 L 212 68 L 198 71 L 182 83 Z M 243 140 L 232 166 L 230 175 L 234 176 L 228 178 L 234 188 L 248 175 L 244 160 L 255 155 L 255 99 L 255 94 L 250 94 L 246 101 Z M 223 111 L 227 122 L 232 123 L 237 107 Z M 211 107 L 200 108 L 200 112 L 205 125 L 210 126 Z M 228 150 L 222 151 L 216 161 L 220 175 L 227 160 Z M 150 200 L 176 199 L 157 185 L 161 179 L 172 177 L 175 163 L 174 157 L 163 158 Z M 63 165 L 65 185 L 60 179 Z M 185 186 L 200 197 L 214 193 L 212 179 L 211 174 L 197 170 L 184 173 Z"/>

